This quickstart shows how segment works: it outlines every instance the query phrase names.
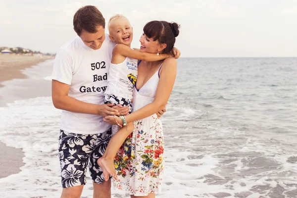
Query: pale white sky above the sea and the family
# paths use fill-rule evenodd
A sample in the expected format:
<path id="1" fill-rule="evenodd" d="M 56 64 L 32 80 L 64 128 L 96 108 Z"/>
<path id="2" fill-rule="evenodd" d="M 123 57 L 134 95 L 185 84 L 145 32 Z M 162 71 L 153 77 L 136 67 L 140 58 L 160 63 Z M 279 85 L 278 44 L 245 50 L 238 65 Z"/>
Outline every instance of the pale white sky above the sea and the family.
<path id="1" fill-rule="evenodd" d="M 165 20 L 181 25 L 182 57 L 297 56 L 297 0 L 0 0 L 0 47 L 54 53 L 76 36 L 83 5 L 97 6 L 106 23 L 127 16 L 135 48 L 148 21 Z"/>

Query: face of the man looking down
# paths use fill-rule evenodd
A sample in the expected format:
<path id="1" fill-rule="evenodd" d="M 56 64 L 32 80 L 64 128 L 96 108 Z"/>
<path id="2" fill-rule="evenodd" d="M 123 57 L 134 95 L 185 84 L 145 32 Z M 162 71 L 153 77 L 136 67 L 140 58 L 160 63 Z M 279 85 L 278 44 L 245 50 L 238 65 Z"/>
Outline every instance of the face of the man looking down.
<path id="1" fill-rule="evenodd" d="M 100 49 L 103 41 L 105 40 L 105 29 L 103 26 L 98 26 L 96 33 L 90 33 L 83 30 L 80 38 L 89 48 Z"/>

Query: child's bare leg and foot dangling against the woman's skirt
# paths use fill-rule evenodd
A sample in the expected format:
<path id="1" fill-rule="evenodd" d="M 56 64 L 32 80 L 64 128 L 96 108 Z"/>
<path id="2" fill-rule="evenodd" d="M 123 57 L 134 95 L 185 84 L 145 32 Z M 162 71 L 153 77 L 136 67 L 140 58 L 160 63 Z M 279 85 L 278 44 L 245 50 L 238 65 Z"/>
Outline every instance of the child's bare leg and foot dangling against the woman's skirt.
<path id="1" fill-rule="evenodd" d="M 110 139 L 104 154 L 97 160 L 98 165 L 102 168 L 105 181 L 108 181 L 109 175 L 117 179 L 117 175 L 114 168 L 114 157 L 117 151 L 122 146 L 123 142 L 133 132 L 133 130 L 133 123 L 128 123 L 127 127 L 121 128 Z"/>

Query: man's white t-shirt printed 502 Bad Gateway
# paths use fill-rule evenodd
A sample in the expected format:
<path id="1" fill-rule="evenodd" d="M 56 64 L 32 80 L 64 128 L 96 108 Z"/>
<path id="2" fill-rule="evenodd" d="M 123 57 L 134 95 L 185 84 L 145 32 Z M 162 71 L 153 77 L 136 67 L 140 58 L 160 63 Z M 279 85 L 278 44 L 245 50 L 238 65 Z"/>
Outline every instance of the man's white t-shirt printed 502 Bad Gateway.
<path id="1" fill-rule="evenodd" d="M 51 78 L 70 85 L 68 96 L 93 104 L 103 104 L 107 76 L 115 44 L 105 34 L 100 49 L 86 46 L 80 37 L 63 45 L 57 52 Z M 99 115 L 62 110 L 62 130 L 77 134 L 105 132 L 110 124 Z"/>

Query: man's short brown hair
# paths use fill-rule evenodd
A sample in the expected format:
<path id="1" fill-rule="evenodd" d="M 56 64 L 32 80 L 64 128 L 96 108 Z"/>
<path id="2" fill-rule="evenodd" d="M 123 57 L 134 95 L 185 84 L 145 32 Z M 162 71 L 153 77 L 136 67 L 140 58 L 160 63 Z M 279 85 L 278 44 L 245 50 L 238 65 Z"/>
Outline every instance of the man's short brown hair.
<path id="1" fill-rule="evenodd" d="M 105 19 L 97 7 L 86 5 L 79 8 L 74 14 L 73 27 L 78 36 L 81 35 L 83 30 L 96 33 L 98 26 L 105 28 Z"/>

